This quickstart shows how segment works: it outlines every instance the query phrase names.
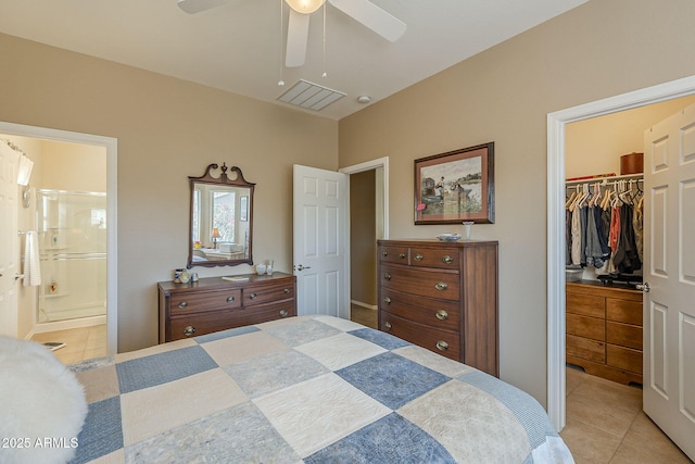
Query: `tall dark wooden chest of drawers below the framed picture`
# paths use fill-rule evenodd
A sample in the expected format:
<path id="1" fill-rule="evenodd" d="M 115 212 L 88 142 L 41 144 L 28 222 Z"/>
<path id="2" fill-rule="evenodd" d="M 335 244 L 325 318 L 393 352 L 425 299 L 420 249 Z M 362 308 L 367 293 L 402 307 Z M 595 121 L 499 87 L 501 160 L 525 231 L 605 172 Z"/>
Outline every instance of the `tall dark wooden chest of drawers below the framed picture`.
<path id="1" fill-rule="evenodd" d="M 379 328 L 497 377 L 497 242 L 378 247 Z"/>

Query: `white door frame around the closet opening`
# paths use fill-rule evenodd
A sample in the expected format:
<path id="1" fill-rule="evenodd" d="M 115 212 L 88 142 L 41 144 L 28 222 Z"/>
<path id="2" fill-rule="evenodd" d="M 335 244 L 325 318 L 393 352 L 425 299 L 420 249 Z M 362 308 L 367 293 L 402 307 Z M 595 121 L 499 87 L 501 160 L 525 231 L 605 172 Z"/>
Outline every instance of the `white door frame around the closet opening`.
<path id="1" fill-rule="evenodd" d="M 566 424 L 565 126 L 693 93 L 690 76 L 547 115 L 547 413 L 558 430 Z"/>

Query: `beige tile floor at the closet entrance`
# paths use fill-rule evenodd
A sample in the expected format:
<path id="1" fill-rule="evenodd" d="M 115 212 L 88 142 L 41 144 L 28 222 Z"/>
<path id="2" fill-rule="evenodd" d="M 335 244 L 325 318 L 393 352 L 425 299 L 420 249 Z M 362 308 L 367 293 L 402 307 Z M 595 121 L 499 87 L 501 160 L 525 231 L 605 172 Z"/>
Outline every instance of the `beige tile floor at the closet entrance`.
<path id="1" fill-rule="evenodd" d="M 642 412 L 642 389 L 567 367 L 567 426 L 578 464 L 692 463 Z"/>

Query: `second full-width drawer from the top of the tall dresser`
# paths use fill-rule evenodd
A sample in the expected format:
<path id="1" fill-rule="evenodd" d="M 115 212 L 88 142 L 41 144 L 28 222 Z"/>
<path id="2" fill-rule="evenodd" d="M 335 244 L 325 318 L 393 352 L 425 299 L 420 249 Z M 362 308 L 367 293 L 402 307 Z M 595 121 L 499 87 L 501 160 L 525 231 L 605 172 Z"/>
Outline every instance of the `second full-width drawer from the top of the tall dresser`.
<path id="1" fill-rule="evenodd" d="M 444 330 L 460 330 L 460 309 L 455 301 L 413 297 L 383 289 L 379 308 L 419 324 Z"/>

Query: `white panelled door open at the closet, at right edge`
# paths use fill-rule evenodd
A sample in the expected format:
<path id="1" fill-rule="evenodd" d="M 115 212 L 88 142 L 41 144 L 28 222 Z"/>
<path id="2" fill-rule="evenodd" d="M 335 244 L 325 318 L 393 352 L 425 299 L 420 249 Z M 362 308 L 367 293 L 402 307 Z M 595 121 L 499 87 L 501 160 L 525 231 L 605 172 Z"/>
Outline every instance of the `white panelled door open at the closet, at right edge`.
<path id="1" fill-rule="evenodd" d="M 644 151 L 644 411 L 695 460 L 695 105 Z"/>

